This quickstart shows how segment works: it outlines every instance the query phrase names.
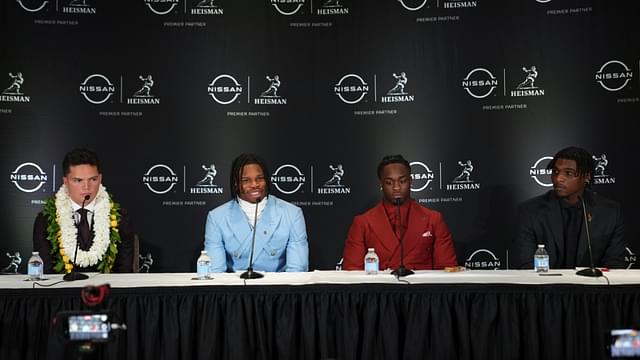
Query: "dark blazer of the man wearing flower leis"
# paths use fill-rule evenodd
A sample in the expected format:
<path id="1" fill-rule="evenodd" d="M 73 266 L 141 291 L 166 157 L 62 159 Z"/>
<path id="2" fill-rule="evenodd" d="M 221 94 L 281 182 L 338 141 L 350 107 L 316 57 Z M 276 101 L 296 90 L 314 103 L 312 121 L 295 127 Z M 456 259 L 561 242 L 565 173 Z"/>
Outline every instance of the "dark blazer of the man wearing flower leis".
<path id="1" fill-rule="evenodd" d="M 126 209 L 120 209 L 120 244 L 118 254 L 113 264 L 112 272 L 127 273 L 133 272 L 133 229 Z M 75 249 L 74 249 L 75 250 Z M 33 251 L 40 252 L 40 257 L 44 262 L 44 272 L 53 273 L 53 263 L 51 258 L 51 243 L 47 239 L 47 218 L 43 213 L 39 213 L 33 224 Z M 73 254 L 68 254 L 73 259 Z M 78 268 L 79 271 L 97 272 L 97 266 L 89 268 Z"/>

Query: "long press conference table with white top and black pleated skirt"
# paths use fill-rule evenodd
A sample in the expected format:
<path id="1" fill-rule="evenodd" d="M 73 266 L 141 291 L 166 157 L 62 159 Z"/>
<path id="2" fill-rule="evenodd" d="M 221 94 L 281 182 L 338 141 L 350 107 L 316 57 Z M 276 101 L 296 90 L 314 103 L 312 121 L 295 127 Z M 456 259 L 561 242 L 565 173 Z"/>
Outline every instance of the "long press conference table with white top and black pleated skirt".
<path id="1" fill-rule="evenodd" d="M 108 359 L 606 359 L 611 329 L 640 327 L 640 271 L 551 273 L 90 274 L 36 288 L 5 275 L 0 359 L 62 358 L 51 319 L 105 283 L 103 309 L 128 327 Z"/>

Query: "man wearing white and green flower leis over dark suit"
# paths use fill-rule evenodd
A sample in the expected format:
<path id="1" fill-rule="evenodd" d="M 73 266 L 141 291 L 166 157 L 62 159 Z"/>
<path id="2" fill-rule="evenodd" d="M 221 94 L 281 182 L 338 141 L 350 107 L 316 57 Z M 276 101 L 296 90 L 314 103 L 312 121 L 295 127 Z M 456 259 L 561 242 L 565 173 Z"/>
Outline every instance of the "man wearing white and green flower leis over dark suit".
<path id="1" fill-rule="evenodd" d="M 44 271 L 132 272 L 133 230 L 126 210 L 102 186 L 96 153 L 74 149 L 62 169 L 62 186 L 33 225 L 33 249 L 40 252 Z"/>

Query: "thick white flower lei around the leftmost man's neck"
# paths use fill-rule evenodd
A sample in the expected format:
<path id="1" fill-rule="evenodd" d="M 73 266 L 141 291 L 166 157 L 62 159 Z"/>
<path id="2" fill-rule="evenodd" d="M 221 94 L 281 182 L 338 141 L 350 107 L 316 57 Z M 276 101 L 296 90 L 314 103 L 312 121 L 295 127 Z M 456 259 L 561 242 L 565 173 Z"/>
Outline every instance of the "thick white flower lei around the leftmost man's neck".
<path id="1" fill-rule="evenodd" d="M 109 202 L 107 189 L 103 185 L 100 185 L 94 201 L 96 203 L 93 212 L 93 229 L 95 235 L 93 237 L 93 244 L 89 250 L 82 250 L 78 247 L 76 265 L 80 267 L 96 265 L 102 260 L 110 243 L 109 226 L 111 221 L 109 212 L 111 210 L 111 204 Z M 78 238 L 78 228 L 73 221 L 74 216 L 71 202 L 69 189 L 66 184 L 63 184 L 56 193 L 56 213 L 61 232 L 60 247 L 69 258 L 69 261 L 73 261 L 73 254 Z"/>

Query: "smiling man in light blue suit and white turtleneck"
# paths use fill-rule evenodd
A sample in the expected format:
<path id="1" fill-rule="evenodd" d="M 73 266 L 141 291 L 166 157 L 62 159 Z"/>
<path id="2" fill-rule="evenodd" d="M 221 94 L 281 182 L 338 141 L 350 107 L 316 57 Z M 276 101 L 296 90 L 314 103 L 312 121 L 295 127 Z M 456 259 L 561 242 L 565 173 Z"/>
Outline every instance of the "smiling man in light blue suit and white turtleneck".
<path id="1" fill-rule="evenodd" d="M 309 244 L 302 210 L 269 195 L 269 171 L 255 154 L 238 156 L 231 166 L 232 199 L 207 216 L 204 248 L 212 272 L 250 267 L 253 224 L 257 213 L 253 269 L 307 271 Z M 256 211 L 257 207 L 257 211 Z"/>

